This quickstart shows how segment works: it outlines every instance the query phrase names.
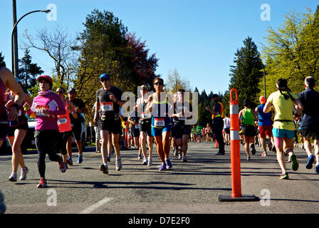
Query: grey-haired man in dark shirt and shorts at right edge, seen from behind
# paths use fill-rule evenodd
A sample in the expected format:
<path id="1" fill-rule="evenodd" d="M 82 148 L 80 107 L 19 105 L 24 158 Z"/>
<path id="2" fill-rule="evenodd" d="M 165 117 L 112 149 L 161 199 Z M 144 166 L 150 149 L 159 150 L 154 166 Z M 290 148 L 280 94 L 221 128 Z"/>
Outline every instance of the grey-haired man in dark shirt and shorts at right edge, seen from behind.
<path id="1" fill-rule="evenodd" d="M 315 173 L 319 173 L 319 108 L 316 103 L 319 100 L 319 93 L 315 87 L 315 78 L 305 78 L 305 90 L 298 94 L 298 99 L 303 104 L 303 118 L 300 124 L 300 135 L 303 137 L 303 145 L 308 154 L 308 161 L 305 167 L 311 169 L 313 162 L 316 160 Z M 311 138 L 314 140 L 315 156 L 313 156 L 313 147 Z"/>

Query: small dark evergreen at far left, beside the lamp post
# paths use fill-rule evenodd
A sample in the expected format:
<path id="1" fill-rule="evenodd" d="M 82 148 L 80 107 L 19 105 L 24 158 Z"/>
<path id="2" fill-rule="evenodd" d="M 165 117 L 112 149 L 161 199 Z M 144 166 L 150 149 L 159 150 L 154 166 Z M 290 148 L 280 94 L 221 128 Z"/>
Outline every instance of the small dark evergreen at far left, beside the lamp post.
<path id="1" fill-rule="evenodd" d="M 41 75 L 43 71 L 36 63 L 32 63 L 30 51 L 24 51 L 23 58 L 19 59 L 19 71 L 17 78 L 20 79 L 22 86 L 25 90 L 30 90 L 36 86 L 36 78 Z"/>

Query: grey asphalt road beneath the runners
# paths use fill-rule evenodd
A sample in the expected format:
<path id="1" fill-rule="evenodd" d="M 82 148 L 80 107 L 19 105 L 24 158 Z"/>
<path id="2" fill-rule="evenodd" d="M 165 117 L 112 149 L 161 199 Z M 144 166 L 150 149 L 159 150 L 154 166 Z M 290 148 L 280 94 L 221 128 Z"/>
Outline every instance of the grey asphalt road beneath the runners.
<path id="1" fill-rule="evenodd" d="M 9 182 L 11 156 L 0 156 L 0 190 L 7 214 L 287 214 L 318 213 L 319 175 L 305 169 L 307 155 L 296 148 L 300 164 L 294 172 L 287 164 L 290 180 L 279 180 L 281 170 L 272 152 L 261 157 L 261 148 L 246 161 L 241 147 L 241 192 L 254 195 L 255 202 L 219 202 L 219 195 L 231 195 L 230 147 L 226 155 L 215 155 L 213 143 L 189 143 L 188 162 L 172 155 L 173 170 L 160 172 L 159 157 L 153 165 L 142 165 L 137 150 L 122 150 L 123 168 L 103 175 L 95 148 L 87 147 L 83 163 L 76 162 L 62 173 L 56 162 L 46 158 L 47 189 L 37 189 L 37 154 L 24 155 L 29 168 L 25 181 Z M 18 176 L 20 175 L 20 168 Z"/>

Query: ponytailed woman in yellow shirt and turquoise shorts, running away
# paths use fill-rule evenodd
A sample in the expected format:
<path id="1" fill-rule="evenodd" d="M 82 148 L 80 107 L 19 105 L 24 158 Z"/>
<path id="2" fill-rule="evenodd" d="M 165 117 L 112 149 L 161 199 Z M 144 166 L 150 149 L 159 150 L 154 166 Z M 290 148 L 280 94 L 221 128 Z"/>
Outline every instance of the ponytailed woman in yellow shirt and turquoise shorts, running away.
<path id="1" fill-rule="evenodd" d="M 275 118 L 273 123 L 273 138 L 276 146 L 276 155 L 278 163 L 281 167 L 280 179 L 288 179 L 288 172 L 286 171 L 286 160 L 284 152 L 291 157 L 291 167 L 294 171 L 298 170 L 298 162 L 296 155 L 293 153 L 293 136 L 295 125 L 293 118 L 300 117 L 303 110 L 303 105 L 298 100 L 297 96 L 288 88 L 286 79 L 280 78 L 276 87 L 278 91 L 271 93 L 268 97 L 266 105 L 263 107 L 263 112 L 271 111 L 271 105 L 275 109 Z M 295 106 L 296 114 L 293 116 L 293 106 Z M 283 147 L 285 142 L 285 147 Z"/>

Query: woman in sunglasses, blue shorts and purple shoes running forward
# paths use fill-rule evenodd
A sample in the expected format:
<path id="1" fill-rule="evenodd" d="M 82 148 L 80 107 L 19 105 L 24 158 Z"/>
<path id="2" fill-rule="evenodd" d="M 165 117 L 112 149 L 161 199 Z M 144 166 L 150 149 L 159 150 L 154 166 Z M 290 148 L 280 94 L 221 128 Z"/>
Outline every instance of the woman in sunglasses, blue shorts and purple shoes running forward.
<path id="1" fill-rule="evenodd" d="M 160 171 L 164 171 L 172 169 L 172 162 L 169 160 L 169 138 L 172 128 L 169 112 L 172 109 L 172 105 L 169 104 L 167 94 L 161 96 L 161 93 L 164 92 L 163 79 L 155 78 L 153 86 L 155 87 L 155 93 L 150 95 L 147 100 L 146 113 L 152 113 L 152 135 L 155 137 L 157 153 L 162 161 Z"/>

